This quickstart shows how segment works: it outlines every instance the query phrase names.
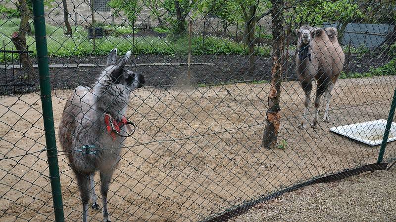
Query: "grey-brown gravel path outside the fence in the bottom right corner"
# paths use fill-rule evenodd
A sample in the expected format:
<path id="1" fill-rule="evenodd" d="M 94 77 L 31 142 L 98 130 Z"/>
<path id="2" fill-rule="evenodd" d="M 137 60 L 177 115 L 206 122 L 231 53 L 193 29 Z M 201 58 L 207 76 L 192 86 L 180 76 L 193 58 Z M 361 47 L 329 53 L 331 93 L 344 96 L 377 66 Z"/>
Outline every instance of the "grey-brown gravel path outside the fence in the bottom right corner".
<path id="1" fill-rule="evenodd" d="M 257 205 L 231 222 L 396 221 L 396 168 L 307 186 Z"/>

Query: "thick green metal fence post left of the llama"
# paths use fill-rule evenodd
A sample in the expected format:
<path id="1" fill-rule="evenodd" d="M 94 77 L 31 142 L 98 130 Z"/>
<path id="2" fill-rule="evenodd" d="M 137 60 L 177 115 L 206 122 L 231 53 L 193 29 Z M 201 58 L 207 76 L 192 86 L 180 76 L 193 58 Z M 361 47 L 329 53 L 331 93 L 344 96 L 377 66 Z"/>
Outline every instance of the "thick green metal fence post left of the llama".
<path id="1" fill-rule="evenodd" d="M 56 222 L 64 222 L 62 192 L 56 150 L 55 128 L 53 124 L 51 84 L 49 79 L 46 22 L 44 0 L 32 0 L 34 28 L 36 36 L 37 63 L 40 76 L 40 93 L 43 107 L 44 130 L 46 134 L 49 178 L 51 181 L 53 209 Z"/>

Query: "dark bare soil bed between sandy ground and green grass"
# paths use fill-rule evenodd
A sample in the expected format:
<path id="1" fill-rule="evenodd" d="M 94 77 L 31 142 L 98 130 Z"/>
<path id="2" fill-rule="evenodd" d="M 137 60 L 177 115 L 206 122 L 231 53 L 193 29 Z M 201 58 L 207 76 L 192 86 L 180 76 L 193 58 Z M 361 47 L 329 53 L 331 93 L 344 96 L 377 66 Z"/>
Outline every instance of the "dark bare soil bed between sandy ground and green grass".
<path id="1" fill-rule="evenodd" d="M 131 59 L 132 60 L 132 59 Z M 367 72 L 370 67 L 378 67 L 387 62 L 390 58 L 383 58 L 372 55 L 351 55 L 347 71 L 354 71 L 359 73 Z M 49 57 L 50 64 L 104 64 L 104 56 L 74 56 L 74 57 Z M 186 55 L 139 55 L 135 56 L 130 64 L 140 63 L 166 63 L 166 62 L 187 62 Z M 214 65 L 193 65 L 191 67 L 191 83 L 193 84 L 218 84 L 221 82 L 237 82 L 237 81 L 260 81 L 269 80 L 271 77 L 272 60 L 269 56 L 256 57 L 256 72 L 248 73 L 248 58 L 241 55 L 201 55 L 192 56 L 192 62 L 200 63 L 213 63 Z M 36 63 L 33 59 L 33 63 Z M 11 65 L 11 64 L 7 64 Z M 17 64 L 16 64 L 17 65 Z M 286 66 L 286 65 L 285 65 Z M 295 65 L 294 59 L 288 65 L 288 77 L 294 79 Z M 56 89 L 74 89 L 78 85 L 90 86 L 95 82 L 97 74 L 103 68 L 70 68 L 70 69 L 50 69 L 51 85 Z M 147 86 L 160 86 L 160 87 L 177 87 L 177 85 L 186 82 L 187 66 L 138 66 L 131 67 L 136 73 L 141 73 L 146 77 Z M 24 93 L 28 90 L 38 90 L 39 79 L 26 79 L 21 78 L 22 73 L 20 70 L 4 70 L 0 69 L 0 95 L 13 93 Z M 5 87 L 2 84 L 16 83 L 22 84 L 17 87 Z M 25 85 L 24 85 L 25 84 Z M 27 84 L 34 86 L 28 87 Z M 176 85 L 176 86 L 175 86 Z"/>

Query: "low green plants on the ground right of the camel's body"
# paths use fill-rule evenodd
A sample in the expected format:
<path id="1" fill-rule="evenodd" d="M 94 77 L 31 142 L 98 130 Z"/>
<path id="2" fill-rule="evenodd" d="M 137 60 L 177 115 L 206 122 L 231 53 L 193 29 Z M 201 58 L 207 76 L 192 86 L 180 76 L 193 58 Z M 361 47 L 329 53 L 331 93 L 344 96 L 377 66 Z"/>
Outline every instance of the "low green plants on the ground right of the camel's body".
<path id="1" fill-rule="evenodd" d="M 374 68 L 371 67 L 367 73 L 356 73 L 356 72 L 342 72 L 340 75 L 341 79 L 345 78 L 361 78 L 361 77 L 372 77 L 378 75 L 396 75 L 396 58 L 392 59 L 389 63 Z"/>

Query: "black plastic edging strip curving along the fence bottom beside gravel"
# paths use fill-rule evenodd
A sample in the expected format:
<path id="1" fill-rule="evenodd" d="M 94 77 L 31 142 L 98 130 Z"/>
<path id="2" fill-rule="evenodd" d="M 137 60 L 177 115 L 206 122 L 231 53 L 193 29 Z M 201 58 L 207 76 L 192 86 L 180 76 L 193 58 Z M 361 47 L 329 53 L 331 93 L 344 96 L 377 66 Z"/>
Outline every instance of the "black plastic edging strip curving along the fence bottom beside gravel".
<path id="1" fill-rule="evenodd" d="M 249 201 L 249 202 L 247 202 L 246 204 L 244 204 L 244 205 L 242 205 L 240 207 L 237 207 L 237 208 L 235 208 L 233 210 L 230 210 L 228 212 L 224 212 L 223 214 L 221 214 L 221 215 L 219 215 L 217 217 L 214 217 L 214 218 L 211 218 L 209 220 L 206 220 L 206 222 L 226 222 L 226 221 L 228 221 L 229 219 L 231 219 L 233 217 L 236 217 L 238 215 L 246 213 L 247 210 L 249 210 L 251 207 L 253 207 L 256 204 L 263 203 L 265 201 L 274 199 L 274 198 L 276 198 L 276 197 L 278 197 L 278 196 L 280 196 L 280 195 L 282 195 L 284 193 L 287 193 L 287 192 L 302 188 L 304 186 L 313 185 L 313 184 L 317 184 L 317 183 L 327 183 L 327 182 L 337 181 L 337 180 L 344 179 L 344 178 L 347 178 L 347 177 L 350 177 L 350 176 L 354 176 L 354 175 L 358 175 L 358 174 L 361 174 L 361 173 L 364 173 L 364 172 L 367 172 L 367 171 L 386 170 L 387 166 L 388 166 L 388 163 L 373 163 L 373 164 L 368 164 L 368 165 L 364 165 L 364 166 L 361 166 L 361 167 L 353 168 L 353 169 L 350 169 L 350 170 L 346 169 L 345 171 L 342 171 L 342 172 L 339 172 L 339 173 L 335 173 L 335 174 L 331 174 L 331 175 L 328 175 L 328 176 L 312 179 L 312 180 L 309 180 L 309 181 L 306 181 L 306 182 L 303 182 L 303 183 L 300 183 L 300 184 L 297 184 L 297 185 L 293 185 L 291 187 L 279 190 L 279 191 L 274 192 L 272 194 L 263 196 L 263 197 L 261 197 L 261 198 L 259 198 L 257 200 Z"/>

